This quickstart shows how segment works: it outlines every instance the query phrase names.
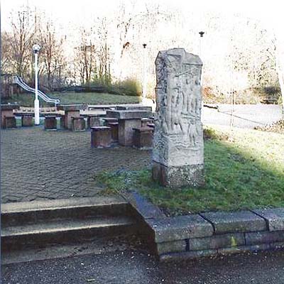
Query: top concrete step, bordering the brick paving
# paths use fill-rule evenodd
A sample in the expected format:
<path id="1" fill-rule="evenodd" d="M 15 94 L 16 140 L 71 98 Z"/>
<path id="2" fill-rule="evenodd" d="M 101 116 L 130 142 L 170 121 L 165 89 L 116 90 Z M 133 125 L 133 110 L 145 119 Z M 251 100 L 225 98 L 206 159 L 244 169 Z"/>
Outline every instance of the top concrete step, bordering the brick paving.
<path id="1" fill-rule="evenodd" d="M 125 216 L 127 212 L 128 202 L 117 196 L 6 203 L 1 205 L 1 226 L 5 228 L 60 219 Z"/>

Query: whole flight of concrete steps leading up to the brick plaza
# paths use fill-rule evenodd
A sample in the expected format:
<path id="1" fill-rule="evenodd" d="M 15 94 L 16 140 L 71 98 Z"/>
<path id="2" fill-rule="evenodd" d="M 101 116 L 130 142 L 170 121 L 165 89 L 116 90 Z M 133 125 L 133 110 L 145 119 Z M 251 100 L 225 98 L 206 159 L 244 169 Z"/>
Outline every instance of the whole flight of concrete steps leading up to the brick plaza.
<path id="1" fill-rule="evenodd" d="M 70 249 L 70 244 L 77 246 L 98 241 L 105 246 L 119 236 L 136 235 L 137 221 L 131 212 L 131 205 L 122 197 L 2 204 L 2 261 L 11 263 L 11 256 L 18 259 L 21 252 L 26 251 L 46 251 L 58 246 Z"/>

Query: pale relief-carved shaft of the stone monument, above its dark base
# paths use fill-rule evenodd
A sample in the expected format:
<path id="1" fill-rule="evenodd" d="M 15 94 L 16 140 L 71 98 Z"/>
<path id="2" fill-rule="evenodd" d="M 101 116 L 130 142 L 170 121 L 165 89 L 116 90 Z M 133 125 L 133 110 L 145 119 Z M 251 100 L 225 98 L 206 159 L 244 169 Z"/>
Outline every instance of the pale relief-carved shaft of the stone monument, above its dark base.
<path id="1" fill-rule="evenodd" d="M 173 50 L 173 53 L 160 52 L 155 61 L 157 109 L 154 152 L 159 151 L 158 155 L 163 160 L 171 159 L 168 157 L 170 154 L 188 155 L 188 151 L 198 151 L 203 147 L 203 138 L 200 138 L 203 135 L 200 121 L 202 62 L 189 62 L 187 55 L 190 54 L 185 50 L 183 53 Z"/>

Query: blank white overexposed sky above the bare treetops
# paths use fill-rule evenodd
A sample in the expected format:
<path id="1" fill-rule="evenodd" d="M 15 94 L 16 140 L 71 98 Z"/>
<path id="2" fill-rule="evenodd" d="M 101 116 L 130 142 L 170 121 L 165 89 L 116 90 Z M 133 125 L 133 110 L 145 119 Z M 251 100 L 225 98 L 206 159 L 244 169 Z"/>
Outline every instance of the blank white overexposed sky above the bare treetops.
<path id="1" fill-rule="evenodd" d="M 161 4 L 166 9 L 180 7 L 185 13 L 187 11 L 216 11 L 218 13 L 239 13 L 249 18 L 260 19 L 267 28 L 275 27 L 280 30 L 284 26 L 283 4 L 280 0 L 123 0 L 126 6 L 133 3 L 137 10 L 145 2 Z M 6 28 L 9 21 L 9 13 L 12 9 L 26 5 L 37 6 L 54 16 L 64 26 L 68 23 L 86 22 L 92 15 L 107 15 L 115 13 L 119 0 L 2 0 L 1 1 L 1 23 Z"/>

